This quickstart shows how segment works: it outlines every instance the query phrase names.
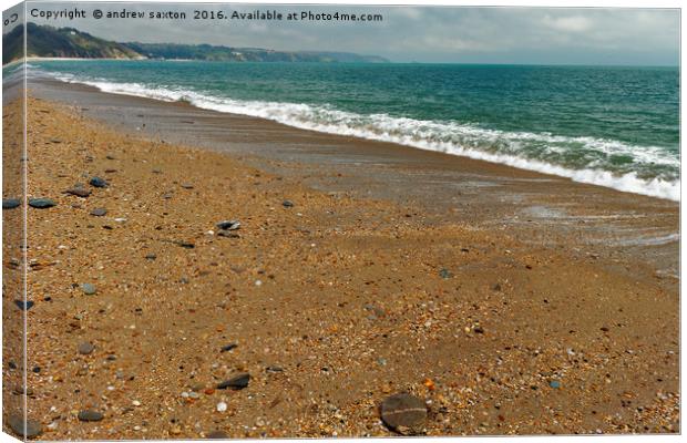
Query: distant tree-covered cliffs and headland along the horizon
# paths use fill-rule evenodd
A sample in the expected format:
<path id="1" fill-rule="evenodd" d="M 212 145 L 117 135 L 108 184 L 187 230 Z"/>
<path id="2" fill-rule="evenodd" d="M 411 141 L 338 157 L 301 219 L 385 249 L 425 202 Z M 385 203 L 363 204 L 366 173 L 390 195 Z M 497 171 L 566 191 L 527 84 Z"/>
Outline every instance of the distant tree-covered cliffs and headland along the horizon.
<path id="1" fill-rule="evenodd" d="M 2 63 L 22 56 L 23 25 L 2 35 Z M 27 55 L 81 59 L 164 59 L 211 60 L 235 62 L 339 62 L 384 63 L 377 55 L 348 52 L 273 51 L 259 48 L 229 48 L 209 44 L 117 43 L 99 39 L 72 28 L 52 28 L 28 23 Z"/>

